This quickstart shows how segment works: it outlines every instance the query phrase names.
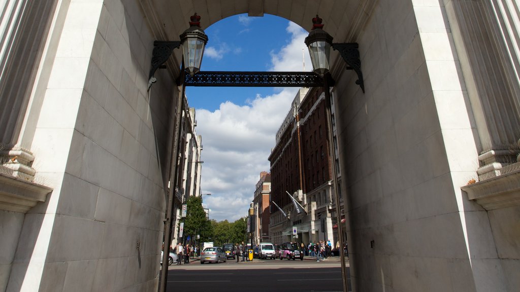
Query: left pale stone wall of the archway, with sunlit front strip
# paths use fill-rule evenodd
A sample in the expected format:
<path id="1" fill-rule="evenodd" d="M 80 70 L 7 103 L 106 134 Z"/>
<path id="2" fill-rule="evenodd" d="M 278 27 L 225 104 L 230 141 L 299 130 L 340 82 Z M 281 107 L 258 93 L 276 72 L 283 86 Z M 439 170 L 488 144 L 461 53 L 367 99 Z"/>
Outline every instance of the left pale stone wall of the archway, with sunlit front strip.
<path id="1" fill-rule="evenodd" d="M 138 2 L 61 4 L 32 149 L 54 192 L 25 217 L 7 291 L 152 291 L 177 90 L 163 70 L 147 92 L 153 37 Z"/>

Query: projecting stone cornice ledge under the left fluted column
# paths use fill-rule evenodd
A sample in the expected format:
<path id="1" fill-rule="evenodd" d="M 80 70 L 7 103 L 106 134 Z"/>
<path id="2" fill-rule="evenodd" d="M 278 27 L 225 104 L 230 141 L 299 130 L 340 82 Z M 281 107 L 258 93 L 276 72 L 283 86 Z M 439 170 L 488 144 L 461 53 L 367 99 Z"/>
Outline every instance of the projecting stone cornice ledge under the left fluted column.
<path id="1" fill-rule="evenodd" d="M 53 189 L 45 185 L 0 173 L 0 209 L 27 213 L 38 202 L 45 202 Z"/>

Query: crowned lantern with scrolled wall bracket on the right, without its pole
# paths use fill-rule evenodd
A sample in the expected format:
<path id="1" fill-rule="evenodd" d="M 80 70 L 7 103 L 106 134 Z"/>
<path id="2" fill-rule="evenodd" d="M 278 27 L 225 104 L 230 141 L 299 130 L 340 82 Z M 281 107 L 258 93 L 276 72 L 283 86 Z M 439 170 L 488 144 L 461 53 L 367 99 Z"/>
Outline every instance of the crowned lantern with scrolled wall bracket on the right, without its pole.
<path id="1" fill-rule="evenodd" d="M 359 50 L 357 43 L 332 43 L 333 37 L 323 30 L 323 20 L 316 15 L 313 18 L 313 29 L 305 38 L 305 45 L 309 49 L 310 61 L 313 63 L 313 71 L 321 76 L 326 75 L 330 70 L 330 48 L 338 50 L 341 57 L 347 63 L 349 70 L 356 71 L 358 80 L 356 84 L 365 92 L 363 84 L 363 74 L 361 73 L 361 61 L 359 60 Z M 324 78 L 325 79 L 325 78 Z"/>

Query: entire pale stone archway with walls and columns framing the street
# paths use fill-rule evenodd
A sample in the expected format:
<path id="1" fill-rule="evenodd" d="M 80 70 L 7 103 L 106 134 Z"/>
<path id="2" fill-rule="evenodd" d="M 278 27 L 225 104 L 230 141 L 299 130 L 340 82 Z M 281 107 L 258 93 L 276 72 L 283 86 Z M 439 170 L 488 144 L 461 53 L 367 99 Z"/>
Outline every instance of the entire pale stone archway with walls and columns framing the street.
<path id="1" fill-rule="evenodd" d="M 330 60 L 354 291 L 520 290 L 516 1 L 0 5 L 0 290 L 157 289 L 181 52 L 148 90 L 150 60 L 194 12 L 359 44 L 364 92 Z"/>

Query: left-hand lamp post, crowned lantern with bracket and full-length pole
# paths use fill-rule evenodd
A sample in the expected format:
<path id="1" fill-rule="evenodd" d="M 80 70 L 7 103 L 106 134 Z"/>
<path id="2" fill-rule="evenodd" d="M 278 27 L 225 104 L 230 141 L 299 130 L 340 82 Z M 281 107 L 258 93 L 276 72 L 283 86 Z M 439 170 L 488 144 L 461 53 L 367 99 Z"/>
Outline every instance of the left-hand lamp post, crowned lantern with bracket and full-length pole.
<path id="1" fill-rule="evenodd" d="M 180 41 L 155 41 L 153 43 L 154 48 L 152 52 L 152 66 L 149 74 L 148 90 L 152 83 L 156 82 L 157 79 L 153 77 L 155 71 L 172 55 L 174 48 L 178 48 L 183 45 L 183 49 L 186 51 L 183 54 L 183 62 L 181 64 L 179 80 L 184 80 L 185 64 L 188 65 L 187 71 L 189 74 L 194 74 L 200 69 L 202 62 L 202 55 L 204 53 L 204 47 L 207 43 L 207 36 L 204 31 L 200 29 L 200 16 L 194 14 L 190 18 L 190 28 L 184 31 L 180 35 Z M 177 178 L 179 167 L 177 166 L 177 155 L 179 152 L 179 141 L 180 141 L 180 118 L 184 107 L 184 84 L 181 84 L 181 89 L 177 99 L 176 110 L 175 110 L 175 125 L 173 127 L 172 136 L 174 137 L 171 147 L 170 157 L 170 187 L 168 188 L 168 202 L 166 207 L 166 218 L 164 220 L 164 248 L 163 248 L 163 264 L 161 269 L 161 284 L 159 287 L 160 292 L 166 291 L 166 283 L 168 277 L 168 256 L 170 255 L 170 244 L 172 241 L 172 217 L 173 217 L 173 190 L 177 186 Z M 177 133 L 177 135 L 175 135 Z"/>

